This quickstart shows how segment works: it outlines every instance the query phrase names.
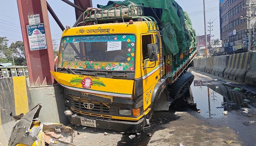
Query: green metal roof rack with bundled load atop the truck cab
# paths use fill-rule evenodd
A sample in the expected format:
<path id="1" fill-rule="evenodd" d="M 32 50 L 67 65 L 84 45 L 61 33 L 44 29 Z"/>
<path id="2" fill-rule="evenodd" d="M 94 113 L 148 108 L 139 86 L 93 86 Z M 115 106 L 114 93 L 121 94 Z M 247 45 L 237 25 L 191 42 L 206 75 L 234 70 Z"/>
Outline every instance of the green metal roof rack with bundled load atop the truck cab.
<path id="1" fill-rule="evenodd" d="M 78 23 L 77 26 L 81 23 L 105 23 L 109 21 L 121 21 L 125 22 L 125 20 L 137 20 L 137 21 L 146 21 L 148 24 L 148 31 L 154 31 L 157 29 L 157 21 L 151 16 L 143 16 L 143 6 L 132 5 L 129 6 L 120 6 L 120 7 L 112 7 L 109 9 L 96 9 L 90 8 L 87 9 L 83 13 L 83 21 Z M 152 20 L 153 19 L 153 20 Z M 152 29 L 151 29 L 151 25 Z M 155 23 L 154 23 L 155 22 Z"/>

